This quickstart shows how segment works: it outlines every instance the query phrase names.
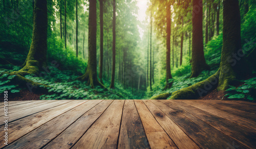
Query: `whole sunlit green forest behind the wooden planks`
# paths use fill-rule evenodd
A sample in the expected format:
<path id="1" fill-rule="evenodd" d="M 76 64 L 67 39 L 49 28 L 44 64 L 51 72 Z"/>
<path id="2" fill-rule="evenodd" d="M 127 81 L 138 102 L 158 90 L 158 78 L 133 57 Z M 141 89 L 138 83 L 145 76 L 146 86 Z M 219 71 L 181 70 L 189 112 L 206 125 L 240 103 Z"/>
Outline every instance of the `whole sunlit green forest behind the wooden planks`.
<path id="1" fill-rule="evenodd" d="M 256 1 L 0 3 L 10 100 L 256 100 Z"/>

